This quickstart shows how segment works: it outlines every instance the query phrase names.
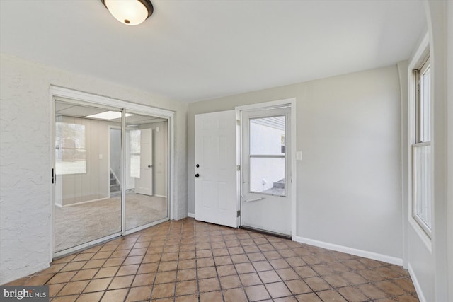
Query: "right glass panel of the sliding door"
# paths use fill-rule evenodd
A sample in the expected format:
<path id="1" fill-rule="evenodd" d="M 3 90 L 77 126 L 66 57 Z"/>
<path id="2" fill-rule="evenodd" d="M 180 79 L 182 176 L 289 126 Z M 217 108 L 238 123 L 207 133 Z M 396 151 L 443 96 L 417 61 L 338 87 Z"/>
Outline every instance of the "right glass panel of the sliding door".
<path id="1" fill-rule="evenodd" d="M 126 115 L 126 230 L 168 218 L 167 120 Z"/>

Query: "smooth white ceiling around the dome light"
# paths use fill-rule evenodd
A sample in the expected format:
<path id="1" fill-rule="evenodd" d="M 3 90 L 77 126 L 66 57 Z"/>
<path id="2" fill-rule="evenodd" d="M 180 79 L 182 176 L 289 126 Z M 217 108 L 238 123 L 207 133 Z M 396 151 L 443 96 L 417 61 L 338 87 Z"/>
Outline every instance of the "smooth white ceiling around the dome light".
<path id="1" fill-rule="evenodd" d="M 185 102 L 410 57 L 419 0 L 154 0 L 119 23 L 98 0 L 0 0 L 0 51 Z"/>

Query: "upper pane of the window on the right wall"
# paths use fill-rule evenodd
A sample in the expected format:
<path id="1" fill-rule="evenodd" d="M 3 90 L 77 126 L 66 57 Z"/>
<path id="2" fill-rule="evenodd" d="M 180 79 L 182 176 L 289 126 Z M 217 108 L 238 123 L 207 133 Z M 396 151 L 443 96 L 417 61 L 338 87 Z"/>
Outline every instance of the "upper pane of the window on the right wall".
<path id="1" fill-rule="evenodd" d="M 431 71 L 430 67 L 420 76 L 420 141 L 430 141 L 430 86 Z"/>

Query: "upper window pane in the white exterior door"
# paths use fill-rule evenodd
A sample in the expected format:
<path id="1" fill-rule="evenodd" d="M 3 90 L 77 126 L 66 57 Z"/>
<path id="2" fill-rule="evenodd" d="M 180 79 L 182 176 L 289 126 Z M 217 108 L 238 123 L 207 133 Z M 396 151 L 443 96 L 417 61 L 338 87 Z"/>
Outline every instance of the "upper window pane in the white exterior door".
<path id="1" fill-rule="evenodd" d="M 285 115 L 250 120 L 250 154 L 285 154 Z"/>

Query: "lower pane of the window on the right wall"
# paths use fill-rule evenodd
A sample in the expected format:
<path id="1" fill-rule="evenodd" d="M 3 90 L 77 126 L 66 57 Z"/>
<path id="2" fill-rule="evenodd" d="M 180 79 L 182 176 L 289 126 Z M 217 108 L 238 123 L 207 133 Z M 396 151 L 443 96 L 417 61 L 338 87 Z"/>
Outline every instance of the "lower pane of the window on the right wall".
<path id="1" fill-rule="evenodd" d="M 430 161 L 431 146 L 414 146 L 414 209 L 413 214 L 431 229 L 431 182 Z"/>

